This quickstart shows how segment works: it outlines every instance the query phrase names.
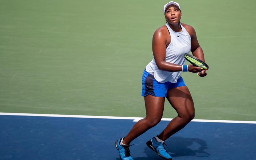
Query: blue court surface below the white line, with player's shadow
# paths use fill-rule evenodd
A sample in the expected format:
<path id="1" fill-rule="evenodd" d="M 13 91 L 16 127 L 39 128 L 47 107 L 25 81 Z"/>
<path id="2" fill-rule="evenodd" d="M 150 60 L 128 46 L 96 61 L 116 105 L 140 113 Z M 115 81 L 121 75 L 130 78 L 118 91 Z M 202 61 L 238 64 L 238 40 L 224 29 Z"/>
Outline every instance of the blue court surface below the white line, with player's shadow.
<path id="1" fill-rule="evenodd" d="M 130 119 L 1 115 L 0 159 L 119 159 L 115 141 L 136 123 Z M 136 160 L 162 159 L 145 142 L 168 124 L 135 139 Z M 190 122 L 167 139 L 174 160 L 255 159 L 256 124 Z"/>

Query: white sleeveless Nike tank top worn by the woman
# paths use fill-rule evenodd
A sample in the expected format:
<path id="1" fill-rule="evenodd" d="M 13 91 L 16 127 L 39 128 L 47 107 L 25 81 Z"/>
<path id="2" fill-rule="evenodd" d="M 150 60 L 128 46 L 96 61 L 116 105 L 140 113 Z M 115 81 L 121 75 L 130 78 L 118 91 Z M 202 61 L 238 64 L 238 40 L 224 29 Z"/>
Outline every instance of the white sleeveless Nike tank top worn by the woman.
<path id="1" fill-rule="evenodd" d="M 186 59 L 183 57 L 184 53 L 189 53 L 191 48 L 191 37 L 188 34 L 187 30 L 180 24 L 182 31 L 175 32 L 171 27 L 166 23 L 166 26 L 171 35 L 171 43 L 166 48 L 166 62 L 184 65 Z M 155 59 L 153 58 L 151 62 L 146 66 L 146 71 L 149 73 L 154 73 L 156 81 L 172 82 L 176 83 L 180 77 L 181 72 L 169 72 L 159 70 L 156 66 Z"/>

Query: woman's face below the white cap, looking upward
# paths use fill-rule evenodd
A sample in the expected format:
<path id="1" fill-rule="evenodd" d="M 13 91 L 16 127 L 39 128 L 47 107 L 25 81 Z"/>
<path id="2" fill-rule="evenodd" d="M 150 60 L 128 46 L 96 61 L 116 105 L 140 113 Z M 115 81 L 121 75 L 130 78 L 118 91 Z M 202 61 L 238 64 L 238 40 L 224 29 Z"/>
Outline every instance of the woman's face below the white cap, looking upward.
<path id="1" fill-rule="evenodd" d="M 165 10 L 165 18 L 168 23 L 180 22 L 181 16 L 181 11 L 176 5 L 169 5 Z"/>

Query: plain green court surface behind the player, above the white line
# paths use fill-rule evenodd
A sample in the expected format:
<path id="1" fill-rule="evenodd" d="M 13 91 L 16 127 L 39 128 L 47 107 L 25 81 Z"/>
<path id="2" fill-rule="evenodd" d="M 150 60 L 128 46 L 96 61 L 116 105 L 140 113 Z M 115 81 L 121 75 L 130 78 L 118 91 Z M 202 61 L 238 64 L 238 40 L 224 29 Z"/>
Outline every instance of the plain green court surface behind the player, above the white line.
<path id="1" fill-rule="evenodd" d="M 168 1 L 0 1 L 0 112 L 144 117 Z M 256 121 L 256 1 L 177 1 L 210 66 L 182 73 L 195 119 Z M 176 111 L 166 101 L 164 118 Z"/>

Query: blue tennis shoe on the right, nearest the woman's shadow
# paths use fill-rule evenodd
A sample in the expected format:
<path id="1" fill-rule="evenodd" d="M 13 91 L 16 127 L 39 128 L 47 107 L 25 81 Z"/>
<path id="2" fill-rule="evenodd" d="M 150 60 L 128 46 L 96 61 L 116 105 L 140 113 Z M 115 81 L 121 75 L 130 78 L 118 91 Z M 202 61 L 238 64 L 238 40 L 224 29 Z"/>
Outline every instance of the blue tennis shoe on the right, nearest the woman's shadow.
<path id="1" fill-rule="evenodd" d="M 169 159 L 171 160 L 172 157 L 170 156 L 170 154 L 167 153 L 166 149 L 164 148 L 164 143 L 161 142 L 157 142 L 156 138 L 153 137 L 152 139 L 150 139 L 147 143 L 147 146 L 152 149 L 153 151 L 156 152 L 157 155 L 159 155 L 160 157 L 164 158 L 164 159 Z"/>

